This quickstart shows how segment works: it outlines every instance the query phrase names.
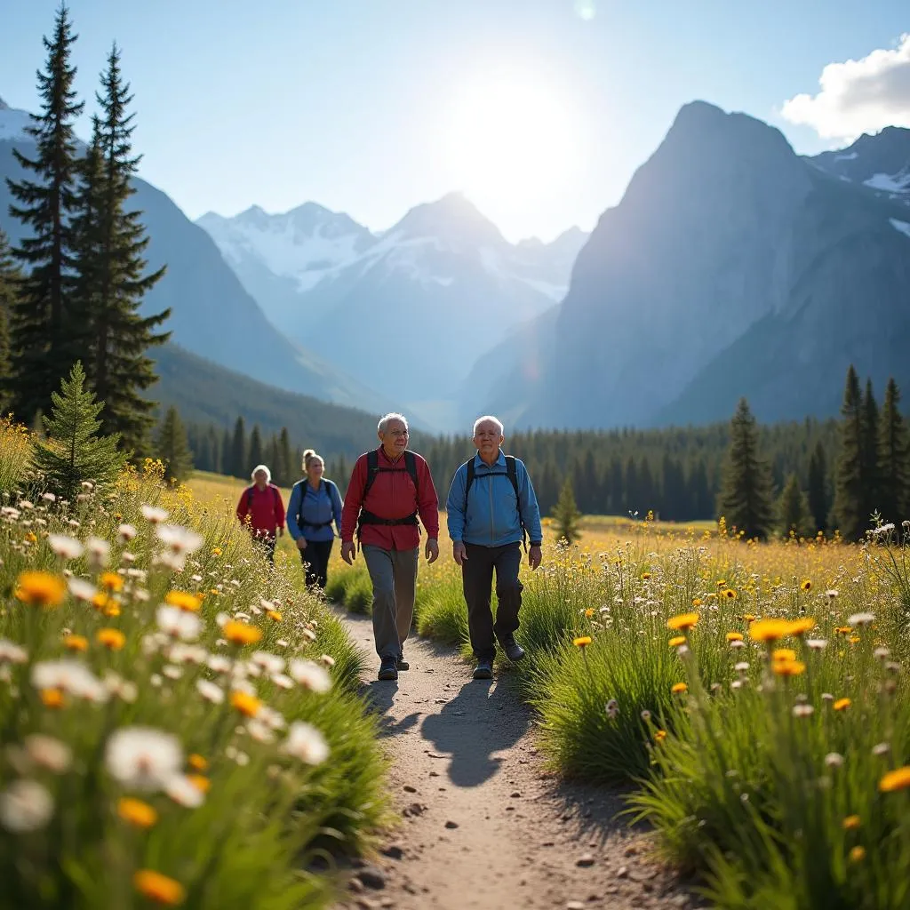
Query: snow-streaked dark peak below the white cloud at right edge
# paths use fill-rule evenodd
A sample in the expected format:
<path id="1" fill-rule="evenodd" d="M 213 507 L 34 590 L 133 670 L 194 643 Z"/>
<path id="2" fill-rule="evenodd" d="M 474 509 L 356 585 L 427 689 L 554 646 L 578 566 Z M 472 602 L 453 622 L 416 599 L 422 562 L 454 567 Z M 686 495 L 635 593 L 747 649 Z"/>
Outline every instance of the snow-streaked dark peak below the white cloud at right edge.
<path id="1" fill-rule="evenodd" d="M 875 136 L 864 134 L 852 146 L 809 160 L 834 177 L 910 206 L 910 129 L 887 126 Z"/>

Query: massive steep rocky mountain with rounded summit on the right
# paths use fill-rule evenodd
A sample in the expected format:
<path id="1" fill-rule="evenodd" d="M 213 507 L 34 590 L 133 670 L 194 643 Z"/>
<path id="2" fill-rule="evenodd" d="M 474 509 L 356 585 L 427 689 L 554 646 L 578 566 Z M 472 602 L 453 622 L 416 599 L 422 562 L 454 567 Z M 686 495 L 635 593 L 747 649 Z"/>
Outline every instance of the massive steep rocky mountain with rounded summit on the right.
<path id="1" fill-rule="evenodd" d="M 860 155 L 831 157 L 844 160 Z M 511 370 L 490 410 L 525 426 L 684 424 L 745 395 L 781 420 L 836 412 L 851 362 L 879 385 L 910 379 L 910 216 L 866 185 L 895 161 L 866 161 L 833 175 L 752 117 L 683 107 L 581 250 L 546 356 L 515 338 L 491 353 Z"/>

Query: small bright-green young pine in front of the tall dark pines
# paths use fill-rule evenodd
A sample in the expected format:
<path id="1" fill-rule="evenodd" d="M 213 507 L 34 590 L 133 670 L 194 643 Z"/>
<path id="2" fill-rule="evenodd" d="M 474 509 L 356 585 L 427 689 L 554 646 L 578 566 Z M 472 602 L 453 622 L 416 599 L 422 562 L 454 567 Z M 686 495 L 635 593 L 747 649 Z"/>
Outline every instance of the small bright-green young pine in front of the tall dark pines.
<path id="1" fill-rule="evenodd" d="M 95 435 L 105 403 L 96 401 L 85 384 L 85 371 L 76 360 L 69 379 L 61 382 L 61 391 L 51 393 L 53 416 L 45 417 L 47 439 L 36 441 L 33 451 L 35 468 L 45 475 L 47 486 L 67 500 L 86 480 L 104 489 L 126 464 L 126 456 L 117 450 L 116 433 Z"/>

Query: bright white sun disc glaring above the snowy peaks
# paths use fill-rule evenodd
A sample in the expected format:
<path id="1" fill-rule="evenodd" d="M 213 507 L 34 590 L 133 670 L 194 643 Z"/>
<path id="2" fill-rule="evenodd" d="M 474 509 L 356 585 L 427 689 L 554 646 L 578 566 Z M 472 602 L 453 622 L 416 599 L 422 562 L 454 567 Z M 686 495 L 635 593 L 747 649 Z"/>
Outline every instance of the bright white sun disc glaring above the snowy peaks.
<path id="1" fill-rule="evenodd" d="M 465 86 L 445 147 L 457 185 L 481 209 L 523 210 L 560 197 L 578 165 L 571 100 L 531 75 L 501 73 Z"/>

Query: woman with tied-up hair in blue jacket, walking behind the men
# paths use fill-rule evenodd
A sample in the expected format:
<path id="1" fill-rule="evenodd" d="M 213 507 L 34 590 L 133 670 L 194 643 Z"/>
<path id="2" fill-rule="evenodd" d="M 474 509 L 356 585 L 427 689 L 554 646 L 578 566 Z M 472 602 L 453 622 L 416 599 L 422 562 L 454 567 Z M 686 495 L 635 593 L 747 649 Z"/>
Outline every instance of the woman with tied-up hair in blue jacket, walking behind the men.
<path id="1" fill-rule="evenodd" d="M 294 484 L 288 500 L 288 534 L 297 543 L 307 573 L 307 587 L 324 589 L 329 578 L 329 556 L 335 542 L 332 522 L 341 533 L 339 488 L 322 476 L 325 461 L 312 449 L 303 453 L 307 475 Z"/>

